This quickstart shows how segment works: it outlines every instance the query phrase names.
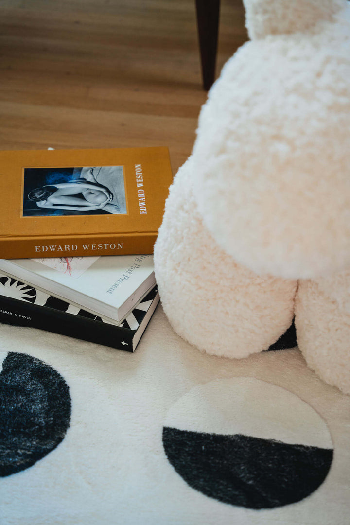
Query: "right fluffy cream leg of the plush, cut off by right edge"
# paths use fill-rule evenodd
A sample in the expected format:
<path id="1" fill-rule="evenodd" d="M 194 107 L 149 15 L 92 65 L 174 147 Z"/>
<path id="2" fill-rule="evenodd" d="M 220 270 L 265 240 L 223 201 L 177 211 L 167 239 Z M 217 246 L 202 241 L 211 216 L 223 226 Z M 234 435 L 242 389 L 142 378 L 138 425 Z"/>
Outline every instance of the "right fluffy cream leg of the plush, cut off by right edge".
<path id="1" fill-rule="evenodd" d="M 298 345 L 307 364 L 324 381 L 350 394 L 350 314 L 346 304 L 337 300 L 340 297 L 330 297 L 325 282 L 299 283 L 295 301 Z M 343 284 L 346 293 L 348 282 Z"/>

